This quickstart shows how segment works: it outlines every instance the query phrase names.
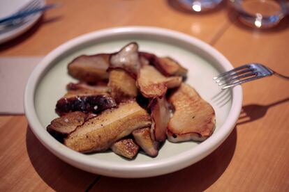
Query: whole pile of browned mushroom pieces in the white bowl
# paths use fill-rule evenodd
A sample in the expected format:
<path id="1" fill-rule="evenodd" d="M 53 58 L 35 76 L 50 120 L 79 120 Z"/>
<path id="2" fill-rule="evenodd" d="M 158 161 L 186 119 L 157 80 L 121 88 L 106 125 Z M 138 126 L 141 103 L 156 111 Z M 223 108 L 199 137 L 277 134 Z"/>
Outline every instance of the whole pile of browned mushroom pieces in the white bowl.
<path id="1" fill-rule="evenodd" d="M 205 141 L 215 111 L 184 81 L 188 70 L 170 57 L 138 50 L 131 42 L 116 53 L 81 55 L 68 63 L 67 93 L 47 131 L 84 154 L 114 153 L 133 159 L 142 148 L 156 157 L 168 141 Z M 135 143 L 134 143 L 135 142 Z"/>

